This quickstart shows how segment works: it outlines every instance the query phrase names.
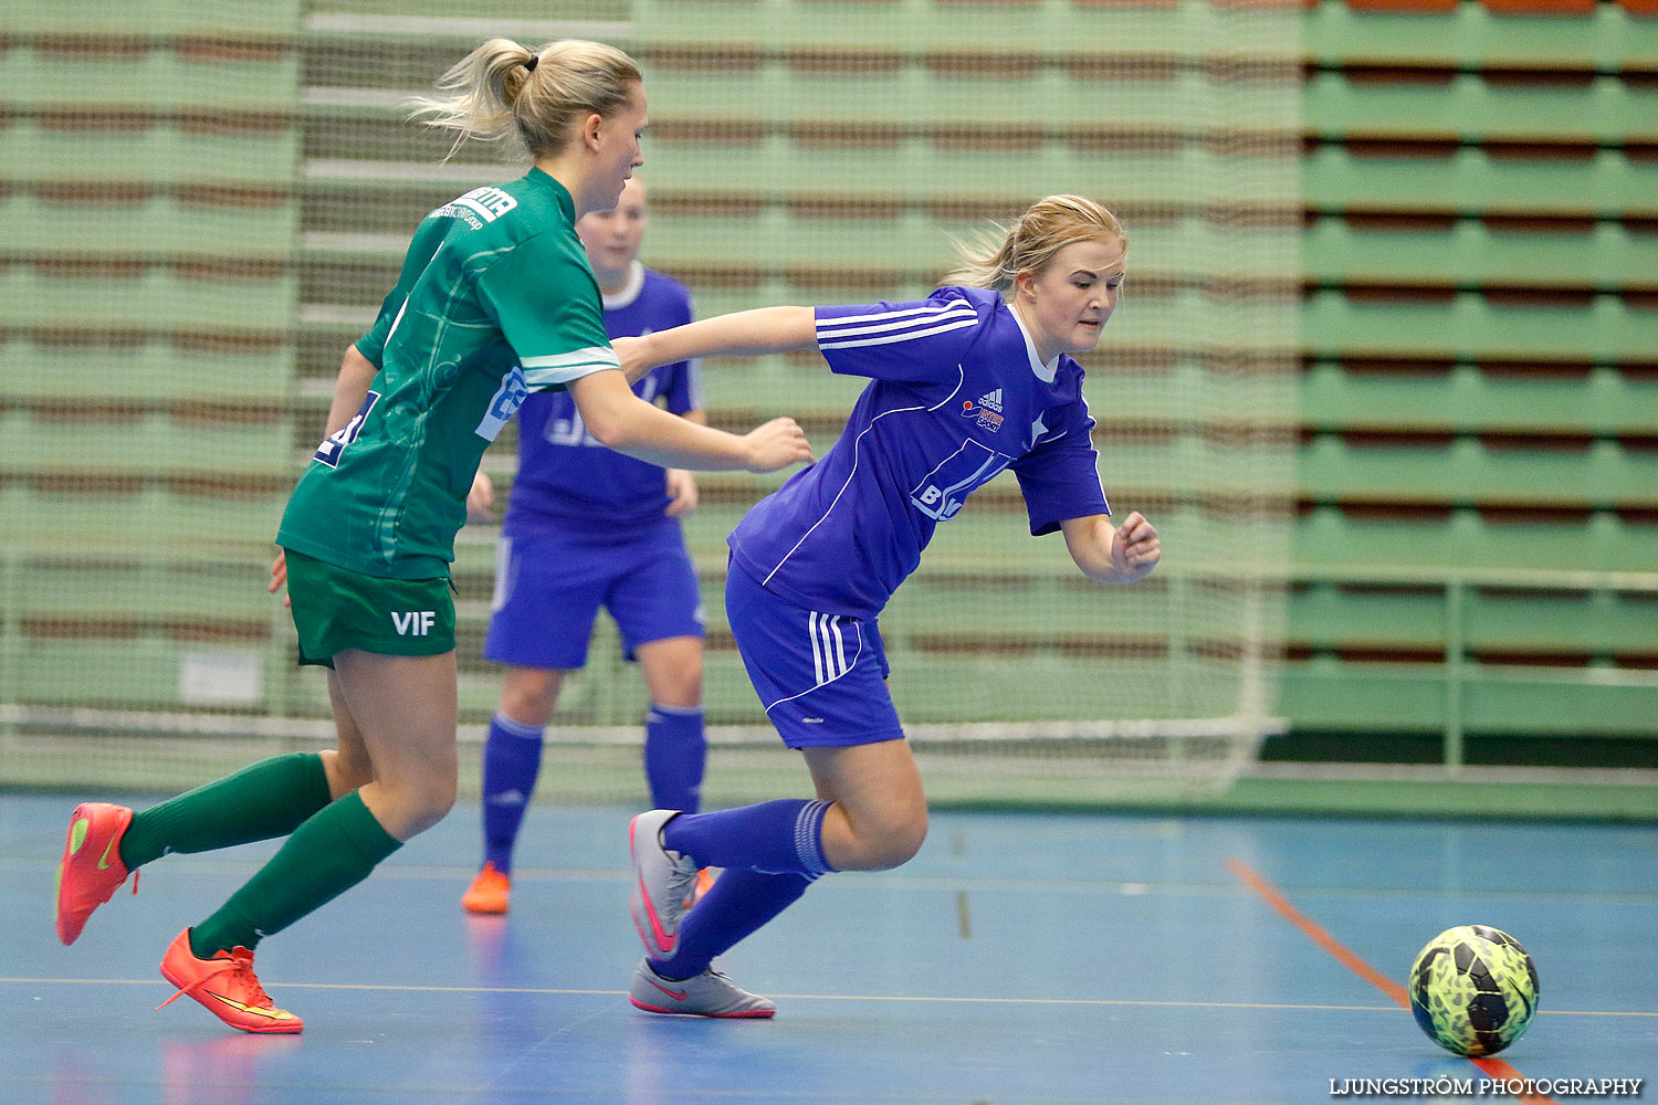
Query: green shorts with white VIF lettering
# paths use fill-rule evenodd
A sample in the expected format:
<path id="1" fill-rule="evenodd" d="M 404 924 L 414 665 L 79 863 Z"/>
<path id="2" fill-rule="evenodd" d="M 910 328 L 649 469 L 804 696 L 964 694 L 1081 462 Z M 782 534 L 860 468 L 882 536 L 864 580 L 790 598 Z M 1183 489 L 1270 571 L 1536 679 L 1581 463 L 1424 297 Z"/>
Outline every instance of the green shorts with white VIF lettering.
<path id="1" fill-rule="evenodd" d="M 300 664 L 333 668 L 335 653 L 348 648 L 381 656 L 454 651 L 454 596 L 448 577 L 386 580 L 292 548 L 285 553 Z"/>

